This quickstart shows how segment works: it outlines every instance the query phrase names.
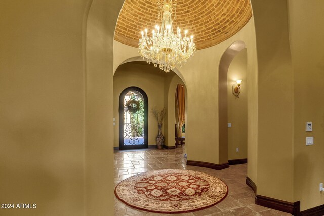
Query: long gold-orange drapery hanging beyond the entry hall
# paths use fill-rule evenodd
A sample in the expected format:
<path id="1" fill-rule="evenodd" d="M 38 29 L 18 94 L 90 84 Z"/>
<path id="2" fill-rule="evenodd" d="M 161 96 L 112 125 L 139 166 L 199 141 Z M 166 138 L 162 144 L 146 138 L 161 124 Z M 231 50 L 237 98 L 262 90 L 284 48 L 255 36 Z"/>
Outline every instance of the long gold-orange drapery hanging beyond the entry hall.
<path id="1" fill-rule="evenodd" d="M 176 91 L 176 114 L 177 114 L 177 133 L 178 137 L 181 137 L 182 126 L 184 122 L 184 87 L 183 85 L 177 85 Z"/>

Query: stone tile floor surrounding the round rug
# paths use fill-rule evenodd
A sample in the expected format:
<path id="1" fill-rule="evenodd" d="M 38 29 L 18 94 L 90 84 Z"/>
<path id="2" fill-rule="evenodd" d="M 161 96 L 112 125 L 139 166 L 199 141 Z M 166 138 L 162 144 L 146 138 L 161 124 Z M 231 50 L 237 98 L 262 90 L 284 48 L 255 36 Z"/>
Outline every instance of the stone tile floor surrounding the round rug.
<path id="1" fill-rule="evenodd" d="M 159 214 L 132 208 L 115 197 L 115 215 L 291 215 L 254 204 L 254 193 L 245 184 L 247 164 L 231 165 L 227 169 L 214 170 L 204 167 L 187 166 L 184 146 L 177 149 L 134 150 L 114 153 L 115 186 L 121 181 L 141 172 L 155 169 L 190 169 L 205 172 L 224 181 L 229 189 L 227 197 L 220 203 L 200 211 L 183 214 Z"/>

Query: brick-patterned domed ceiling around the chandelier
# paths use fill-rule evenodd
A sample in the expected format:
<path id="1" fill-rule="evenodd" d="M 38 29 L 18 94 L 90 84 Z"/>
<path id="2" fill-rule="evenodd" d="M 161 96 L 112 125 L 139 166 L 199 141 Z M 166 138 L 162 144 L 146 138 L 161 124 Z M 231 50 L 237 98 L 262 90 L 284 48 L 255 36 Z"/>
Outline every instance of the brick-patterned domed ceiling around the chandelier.
<path id="1" fill-rule="evenodd" d="M 161 26 L 157 18 L 156 0 L 125 0 L 121 8 L 114 39 L 138 47 L 141 31 L 148 29 L 149 35 L 155 25 Z M 194 36 L 197 50 L 219 44 L 238 32 L 250 20 L 250 0 L 178 0 L 176 19 L 172 14 L 173 30 L 177 26 Z"/>

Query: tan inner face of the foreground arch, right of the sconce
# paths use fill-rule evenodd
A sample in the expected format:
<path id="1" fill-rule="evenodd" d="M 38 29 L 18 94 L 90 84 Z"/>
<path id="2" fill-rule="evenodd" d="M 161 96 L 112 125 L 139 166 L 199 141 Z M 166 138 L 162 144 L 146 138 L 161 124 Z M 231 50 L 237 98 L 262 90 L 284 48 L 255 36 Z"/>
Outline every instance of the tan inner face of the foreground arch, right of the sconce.
<path id="1" fill-rule="evenodd" d="M 293 70 L 287 3 L 251 3 L 259 68 L 257 193 L 292 202 Z"/>

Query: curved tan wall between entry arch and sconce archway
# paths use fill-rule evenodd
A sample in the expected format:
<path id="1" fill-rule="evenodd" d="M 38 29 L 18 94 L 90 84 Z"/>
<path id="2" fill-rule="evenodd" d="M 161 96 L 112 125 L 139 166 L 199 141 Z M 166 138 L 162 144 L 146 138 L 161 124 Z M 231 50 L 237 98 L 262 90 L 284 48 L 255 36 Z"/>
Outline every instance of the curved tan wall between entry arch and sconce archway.
<path id="1" fill-rule="evenodd" d="M 218 143 L 218 65 L 223 52 L 236 40 L 243 40 L 248 47 L 248 56 L 253 59 L 253 20 L 236 35 L 214 47 L 199 50 L 195 56 L 181 68 L 186 80 L 188 91 L 188 120 L 186 130 L 186 147 L 188 149 L 188 160 L 211 162 L 221 164 L 227 162 L 227 151 L 225 159 L 220 159 L 218 152 L 226 146 Z M 252 61 L 252 60 L 250 60 Z M 201 64 L 203 62 L 203 64 Z M 256 73 L 256 67 L 249 65 L 251 76 Z M 257 85 L 251 87 L 255 90 Z M 256 106 L 256 98 L 251 99 L 251 106 Z M 251 109 L 251 110 L 255 110 Z M 256 115 L 256 112 L 251 115 Z M 252 119 L 252 118 L 251 118 Z M 251 123 L 252 124 L 252 123 Z M 256 122 L 253 123 L 256 125 Z M 213 133 L 211 133 L 211 128 Z M 253 126 L 250 127 L 253 129 Z M 188 141 L 188 142 L 187 142 Z M 250 142 L 256 146 L 256 143 Z M 255 148 L 251 148 L 255 149 Z M 251 154 L 255 157 L 255 154 Z M 252 160 L 253 161 L 253 160 Z M 254 165 L 252 162 L 251 165 Z M 252 166 L 250 167 L 252 169 Z M 248 169 L 249 170 L 249 169 Z M 253 171 L 252 171 L 253 173 Z M 253 178 L 253 177 L 251 177 Z"/>

